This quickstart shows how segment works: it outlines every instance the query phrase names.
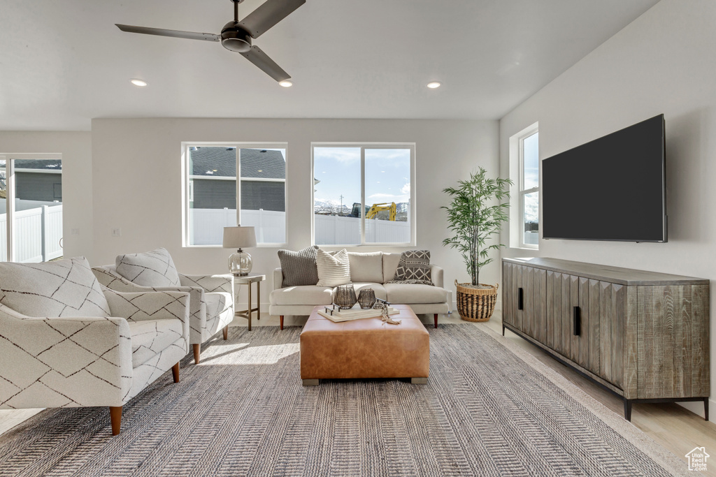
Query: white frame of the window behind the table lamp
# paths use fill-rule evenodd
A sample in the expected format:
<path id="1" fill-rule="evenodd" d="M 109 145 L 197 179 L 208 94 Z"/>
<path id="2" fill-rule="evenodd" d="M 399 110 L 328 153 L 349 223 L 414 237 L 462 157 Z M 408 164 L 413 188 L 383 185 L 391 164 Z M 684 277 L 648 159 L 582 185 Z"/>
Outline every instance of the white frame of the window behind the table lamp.
<path id="1" fill-rule="evenodd" d="M 236 154 L 236 224 L 241 224 L 241 157 L 240 149 L 283 149 L 284 160 L 286 161 L 286 172 L 289 166 L 289 143 L 288 142 L 206 142 L 206 141 L 183 141 L 181 143 L 181 174 L 182 174 L 182 247 L 186 248 L 221 248 L 222 245 L 192 245 L 190 244 L 190 202 L 193 200 L 194 188 L 191 180 L 195 177 L 205 179 L 205 176 L 194 176 L 189 169 L 189 148 L 190 147 L 233 147 Z M 233 180 L 231 177 L 216 177 L 216 180 Z M 288 242 L 288 174 L 283 180 L 268 180 L 267 182 L 284 182 L 284 242 L 256 242 L 256 247 L 285 247 Z"/>

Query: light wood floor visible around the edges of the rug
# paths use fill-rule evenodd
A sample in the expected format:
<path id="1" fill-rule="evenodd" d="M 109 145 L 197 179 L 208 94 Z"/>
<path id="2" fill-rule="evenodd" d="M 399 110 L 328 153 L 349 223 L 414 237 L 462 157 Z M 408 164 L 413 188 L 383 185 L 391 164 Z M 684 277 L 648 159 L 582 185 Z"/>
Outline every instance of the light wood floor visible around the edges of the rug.
<path id="1" fill-rule="evenodd" d="M 303 326 L 307 317 L 290 317 L 286 316 L 284 326 Z M 432 326 L 432 316 L 422 317 L 426 325 Z M 460 320 L 458 313 L 450 315 L 440 315 L 439 323 L 468 323 Z M 237 318 L 232 326 L 246 326 L 246 319 Z M 278 326 L 279 317 L 261 315 L 261 320 L 256 320 L 256 316 L 251 321 L 253 326 Z M 474 325 L 480 326 L 483 324 Z M 495 312 L 493 318 L 486 323 L 490 329 L 497 333 L 502 333 L 502 323 L 498 312 Z M 483 325 L 484 326 L 484 325 Z M 624 404 L 616 395 L 609 393 L 599 385 L 592 383 L 581 374 L 577 373 L 565 365 L 559 363 L 526 340 L 507 331 L 506 338 L 513 340 L 516 345 L 520 346 L 528 353 L 535 356 L 545 365 L 563 375 L 571 383 L 578 385 L 587 394 L 606 405 L 607 408 L 613 410 L 619 415 L 624 413 Z M 712 406 L 713 407 L 713 406 Z M 701 405 L 695 408 L 702 413 Z M 38 413 L 40 409 L 22 409 L 22 410 L 0 410 L 0 433 L 4 433 L 9 429 L 17 426 L 22 421 Z M 716 409 L 712 409 L 711 413 L 716 413 Z M 685 455 L 695 447 L 705 447 L 707 453 L 713 457 L 713 461 L 708 462 L 708 471 L 705 475 L 716 476 L 716 423 L 707 422 L 702 415 L 692 413 L 690 410 L 683 408 L 677 404 L 634 404 L 632 409 L 632 424 L 641 429 L 647 436 L 651 437 L 664 448 L 674 453 L 676 456 L 686 461 Z"/>

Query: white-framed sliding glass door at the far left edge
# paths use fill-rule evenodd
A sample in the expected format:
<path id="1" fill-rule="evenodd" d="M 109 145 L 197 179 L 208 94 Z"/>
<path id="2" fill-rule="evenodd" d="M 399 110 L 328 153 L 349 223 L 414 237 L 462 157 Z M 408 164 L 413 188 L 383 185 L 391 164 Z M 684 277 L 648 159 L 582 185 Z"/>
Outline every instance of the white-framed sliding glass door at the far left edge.
<path id="1" fill-rule="evenodd" d="M 0 261 L 62 258 L 62 155 L 0 154 Z"/>

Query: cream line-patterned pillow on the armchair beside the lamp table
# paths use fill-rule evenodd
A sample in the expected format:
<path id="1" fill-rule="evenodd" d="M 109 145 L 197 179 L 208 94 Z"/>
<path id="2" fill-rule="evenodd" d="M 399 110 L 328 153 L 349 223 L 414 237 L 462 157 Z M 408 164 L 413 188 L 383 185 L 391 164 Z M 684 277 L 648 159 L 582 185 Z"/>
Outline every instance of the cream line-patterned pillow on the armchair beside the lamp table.
<path id="1" fill-rule="evenodd" d="M 165 248 L 151 252 L 117 255 L 117 273 L 142 287 L 178 287 L 180 285 L 172 256 Z"/>

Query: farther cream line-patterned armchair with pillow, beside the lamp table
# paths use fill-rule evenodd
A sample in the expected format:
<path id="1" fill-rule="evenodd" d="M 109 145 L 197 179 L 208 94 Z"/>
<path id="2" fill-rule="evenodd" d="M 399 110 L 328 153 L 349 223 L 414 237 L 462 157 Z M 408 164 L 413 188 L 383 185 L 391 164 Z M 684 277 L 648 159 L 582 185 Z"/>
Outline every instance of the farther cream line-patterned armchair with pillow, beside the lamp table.
<path id="1" fill-rule="evenodd" d="M 220 330 L 228 336 L 233 320 L 233 275 L 183 275 L 176 271 L 169 252 L 163 248 L 152 252 L 119 255 L 115 265 L 93 267 L 97 280 L 119 292 L 179 291 L 188 292 L 189 343 L 194 363 L 200 360 L 200 348 Z"/>

